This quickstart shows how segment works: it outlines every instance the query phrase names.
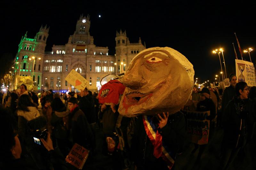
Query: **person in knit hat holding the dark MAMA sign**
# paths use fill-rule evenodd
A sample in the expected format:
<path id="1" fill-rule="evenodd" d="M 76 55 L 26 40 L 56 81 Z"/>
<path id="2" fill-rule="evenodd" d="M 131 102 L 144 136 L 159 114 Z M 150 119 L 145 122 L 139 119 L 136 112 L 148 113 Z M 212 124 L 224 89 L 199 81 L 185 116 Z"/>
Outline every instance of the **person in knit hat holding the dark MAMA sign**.
<path id="1" fill-rule="evenodd" d="M 199 93 L 201 93 L 201 97 L 200 97 L 200 101 L 197 103 L 196 111 L 205 112 L 210 110 L 210 115 L 206 117 L 207 120 L 210 120 L 210 127 L 211 127 L 209 131 L 209 134 L 210 134 L 209 139 L 210 139 L 212 137 L 212 129 L 214 127 L 211 121 L 216 116 L 216 107 L 212 99 L 210 98 L 210 90 L 208 88 L 204 87 L 202 91 L 200 91 Z M 196 164 L 199 164 L 205 147 L 206 147 L 206 144 L 200 145 L 200 149 L 196 158 Z M 191 154 L 194 154 L 198 148 L 199 148 L 199 144 L 195 144 L 195 148 L 193 149 Z"/>

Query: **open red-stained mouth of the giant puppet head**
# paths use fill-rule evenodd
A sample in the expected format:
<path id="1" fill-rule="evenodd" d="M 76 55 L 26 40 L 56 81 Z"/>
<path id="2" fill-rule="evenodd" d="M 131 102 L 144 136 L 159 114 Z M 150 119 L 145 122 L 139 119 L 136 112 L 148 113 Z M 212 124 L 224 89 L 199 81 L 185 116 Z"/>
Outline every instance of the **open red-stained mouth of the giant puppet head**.
<path id="1" fill-rule="evenodd" d="M 129 94 L 125 95 L 125 97 L 127 98 L 126 102 L 127 104 L 139 104 L 141 102 L 145 102 L 150 94 L 152 93 L 143 94 L 140 92 L 130 92 Z"/>

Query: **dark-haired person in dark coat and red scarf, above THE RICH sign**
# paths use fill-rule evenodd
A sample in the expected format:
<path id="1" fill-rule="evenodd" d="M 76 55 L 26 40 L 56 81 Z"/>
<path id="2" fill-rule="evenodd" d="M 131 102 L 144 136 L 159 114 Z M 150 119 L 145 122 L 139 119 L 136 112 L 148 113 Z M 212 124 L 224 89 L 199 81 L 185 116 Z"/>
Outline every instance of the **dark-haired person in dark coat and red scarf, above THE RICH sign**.
<path id="1" fill-rule="evenodd" d="M 84 148 L 91 150 L 93 145 L 93 134 L 86 116 L 78 106 L 75 97 L 68 100 L 68 109 L 70 110 L 71 129 L 73 144 L 77 143 Z"/>

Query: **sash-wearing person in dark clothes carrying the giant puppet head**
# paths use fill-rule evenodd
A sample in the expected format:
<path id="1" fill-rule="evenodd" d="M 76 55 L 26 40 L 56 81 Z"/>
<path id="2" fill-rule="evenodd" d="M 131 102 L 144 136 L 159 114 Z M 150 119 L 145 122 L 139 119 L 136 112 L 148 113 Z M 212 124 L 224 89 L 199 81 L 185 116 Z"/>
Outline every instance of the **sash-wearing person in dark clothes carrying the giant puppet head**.
<path id="1" fill-rule="evenodd" d="M 143 123 L 143 116 L 138 116 L 134 136 L 131 143 L 131 159 L 138 170 L 140 169 L 169 169 L 167 163 L 160 156 L 154 156 L 154 145 L 151 143 Z M 145 119 L 145 118 L 144 118 Z M 172 158 L 176 153 L 181 153 L 185 136 L 185 118 L 181 112 L 172 115 L 163 113 L 162 115 L 148 116 L 157 128 L 157 132 L 166 142 Z M 158 126 L 159 124 L 159 126 Z"/>

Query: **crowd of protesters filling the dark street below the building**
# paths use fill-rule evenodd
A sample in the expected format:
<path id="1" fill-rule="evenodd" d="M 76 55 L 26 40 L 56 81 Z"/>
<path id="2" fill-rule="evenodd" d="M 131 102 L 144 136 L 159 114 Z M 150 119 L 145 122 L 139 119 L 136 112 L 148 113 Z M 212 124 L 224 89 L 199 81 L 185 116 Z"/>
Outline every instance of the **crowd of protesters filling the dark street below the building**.
<path id="1" fill-rule="evenodd" d="M 229 81 L 230 86 L 225 89 L 199 90 L 194 85 L 191 95 L 195 111 L 210 111 L 206 117 L 211 127 L 208 144 L 215 128 L 224 131 L 218 169 L 228 169 L 246 145 L 252 156 L 256 151 L 256 87 L 249 89 L 245 82 L 237 83 L 235 74 L 229 76 Z M 104 169 L 91 164 L 109 157 L 114 162 L 110 169 L 177 168 L 175 163 L 167 166 L 161 155 L 156 156 L 156 146 L 148 142 L 144 129 L 144 117 L 120 120 L 118 105 L 99 104 L 98 94 L 87 88 L 68 95 L 49 90 L 42 92 L 39 99 L 36 93 L 28 92 L 26 85 L 20 85 L 20 93 L 8 92 L 4 101 L 2 94 L 0 169 L 76 169 L 65 161 L 75 143 L 90 151 L 83 169 Z M 173 115 L 150 117 L 163 141 L 172 146 L 173 157 L 183 153 L 185 116 L 181 109 Z M 122 135 L 116 131 L 117 124 Z M 46 138 L 36 135 L 45 129 Z M 191 154 L 199 148 L 196 164 L 200 163 L 206 145 L 194 144 Z"/>

